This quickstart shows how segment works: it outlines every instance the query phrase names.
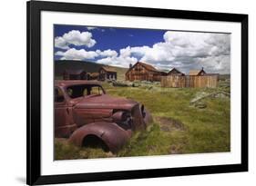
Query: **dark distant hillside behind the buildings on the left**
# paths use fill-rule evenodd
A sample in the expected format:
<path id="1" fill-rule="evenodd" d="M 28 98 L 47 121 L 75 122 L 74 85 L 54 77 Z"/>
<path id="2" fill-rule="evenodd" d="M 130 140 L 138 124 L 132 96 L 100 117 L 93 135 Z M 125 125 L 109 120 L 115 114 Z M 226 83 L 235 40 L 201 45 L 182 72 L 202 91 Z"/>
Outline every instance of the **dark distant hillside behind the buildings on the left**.
<path id="1" fill-rule="evenodd" d="M 101 66 L 108 66 L 105 64 L 97 64 L 87 61 L 77 61 L 77 60 L 56 60 L 55 61 L 55 77 L 56 79 L 62 79 L 62 75 L 65 70 L 80 70 L 83 69 L 87 73 L 97 73 Z M 116 66 L 111 66 L 118 73 L 118 80 L 125 79 L 125 73 L 128 68 L 121 68 Z"/>

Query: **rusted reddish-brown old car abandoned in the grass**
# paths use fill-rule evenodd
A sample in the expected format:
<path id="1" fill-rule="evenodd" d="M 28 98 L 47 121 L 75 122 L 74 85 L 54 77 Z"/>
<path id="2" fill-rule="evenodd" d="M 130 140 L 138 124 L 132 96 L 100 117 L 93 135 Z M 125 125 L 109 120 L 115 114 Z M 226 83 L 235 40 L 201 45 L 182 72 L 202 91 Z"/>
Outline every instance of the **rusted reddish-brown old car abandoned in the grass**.
<path id="1" fill-rule="evenodd" d="M 55 82 L 55 136 L 78 146 L 118 152 L 152 121 L 143 104 L 106 94 L 95 81 Z"/>

